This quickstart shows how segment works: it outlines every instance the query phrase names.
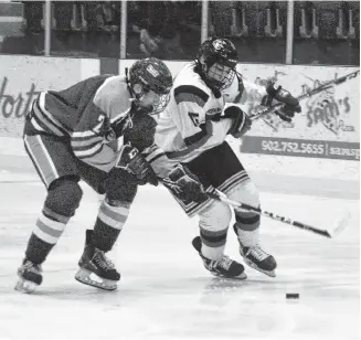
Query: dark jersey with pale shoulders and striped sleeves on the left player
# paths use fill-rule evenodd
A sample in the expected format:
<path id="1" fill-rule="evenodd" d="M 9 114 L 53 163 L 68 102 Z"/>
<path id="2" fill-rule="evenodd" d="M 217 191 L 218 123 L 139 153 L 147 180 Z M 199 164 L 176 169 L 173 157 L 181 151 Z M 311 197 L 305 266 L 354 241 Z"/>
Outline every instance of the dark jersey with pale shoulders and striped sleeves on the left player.
<path id="1" fill-rule="evenodd" d="M 39 132 L 68 138 L 78 159 L 104 171 L 114 167 L 118 156 L 120 136 L 107 135 L 115 124 L 121 126 L 124 142 L 137 147 L 150 161 L 162 158 L 167 162 L 153 145 L 156 121 L 137 110 L 124 76 L 100 75 L 64 91 L 40 93 L 31 124 Z M 153 164 L 157 172 L 164 170 L 163 161 Z"/>

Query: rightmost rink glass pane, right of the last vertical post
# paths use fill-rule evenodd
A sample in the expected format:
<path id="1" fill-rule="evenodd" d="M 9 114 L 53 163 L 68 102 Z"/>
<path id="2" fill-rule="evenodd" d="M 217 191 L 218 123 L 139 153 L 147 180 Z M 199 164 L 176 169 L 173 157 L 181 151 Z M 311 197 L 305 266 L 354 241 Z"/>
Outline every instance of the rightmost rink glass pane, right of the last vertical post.
<path id="1" fill-rule="evenodd" d="M 360 2 L 296 1 L 293 63 L 360 65 Z"/>

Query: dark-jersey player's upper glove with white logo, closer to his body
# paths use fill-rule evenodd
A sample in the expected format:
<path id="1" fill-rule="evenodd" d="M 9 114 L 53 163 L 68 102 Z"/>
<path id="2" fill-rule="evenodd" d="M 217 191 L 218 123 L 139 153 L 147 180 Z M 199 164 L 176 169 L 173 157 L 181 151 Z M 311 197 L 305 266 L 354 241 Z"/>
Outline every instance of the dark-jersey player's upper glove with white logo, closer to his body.
<path id="1" fill-rule="evenodd" d="M 121 147 L 115 167 L 125 169 L 132 173 L 137 178 L 139 185 L 147 183 L 156 187 L 158 185 L 156 172 L 144 156 L 138 151 L 138 149 L 131 147 L 130 144 Z"/>

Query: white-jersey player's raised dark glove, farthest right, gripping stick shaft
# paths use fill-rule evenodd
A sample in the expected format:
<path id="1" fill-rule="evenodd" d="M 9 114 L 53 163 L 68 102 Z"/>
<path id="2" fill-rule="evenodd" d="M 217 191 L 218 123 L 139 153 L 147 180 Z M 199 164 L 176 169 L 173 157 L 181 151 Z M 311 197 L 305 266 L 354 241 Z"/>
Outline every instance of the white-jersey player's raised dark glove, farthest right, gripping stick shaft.
<path id="1" fill-rule="evenodd" d="M 275 110 L 275 114 L 278 115 L 280 119 L 290 123 L 295 113 L 301 111 L 298 99 L 288 91 L 282 88 L 282 86 L 276 88 L 274 83 L 268 83 L 266 91 L 268 96 L 264 97 L 263 105 L 270 106 L 273 99 L 276 99 L 279 103 L 285 103 L 282 108 Z"/>

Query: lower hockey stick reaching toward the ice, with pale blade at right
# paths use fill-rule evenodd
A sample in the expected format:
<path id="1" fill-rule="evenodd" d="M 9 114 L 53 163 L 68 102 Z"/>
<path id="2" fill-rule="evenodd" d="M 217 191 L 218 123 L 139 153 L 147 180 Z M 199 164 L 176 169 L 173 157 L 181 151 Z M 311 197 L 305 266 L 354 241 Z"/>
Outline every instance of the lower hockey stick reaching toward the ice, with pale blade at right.
<path id="1" fill-rule="evenodd" d="M 348 224 L 348 220 L 350 217 L 350 214 L 348 213 L 339 223 L 337 223 L 337 225 L 332 230 L 326 231 L 326 230 L 318 229 L 316 226 L 308 225 L 308 224 L 302 223 L 302 222 L 294 221 L 294 220 L 291 220 L 289 217 L 279 216 L 277 214 L 274 214 L 272 212 L 262 210 L 259 208 L 252 206 L 249 204 L 245 204 L 245 203 L 241 203 L 241 202 L 230 200 L 223 193 L 206 193 L 206 194 L 208 194 L 208 196 L 210 196 L 210 198 L 212 198 L 214 200 L 227 203 L 229 205 L 231 205 L 233 208 L 244 209 L 244 210 L 247 210 L 249 212 L 257 213 L 259 215 L 265 215 L 265 216 L 267 216 L 267 217 L 269 217 L 272 220 L 276 220 L 276 221 L 279 221 L 279 222 L 283 222 L 283 223 L 286 223 L 286 224 L 290 224 L 290 225 L 296 226 L 298 229 L 301 229 L 301 230 L 305 230 L 305 231 L 308 231 L 308 232 L 311 232 L 311 233 L 315 233 L 315 234 L 318 234 L 318 235 L 321 235 L 321 236 L 325 236 L 325 237 L 329 237 L 329 238 L 335 237 L 339 233 L 341 233 L 346 229 L 346 226 Z"/>

